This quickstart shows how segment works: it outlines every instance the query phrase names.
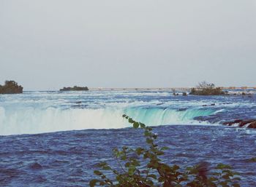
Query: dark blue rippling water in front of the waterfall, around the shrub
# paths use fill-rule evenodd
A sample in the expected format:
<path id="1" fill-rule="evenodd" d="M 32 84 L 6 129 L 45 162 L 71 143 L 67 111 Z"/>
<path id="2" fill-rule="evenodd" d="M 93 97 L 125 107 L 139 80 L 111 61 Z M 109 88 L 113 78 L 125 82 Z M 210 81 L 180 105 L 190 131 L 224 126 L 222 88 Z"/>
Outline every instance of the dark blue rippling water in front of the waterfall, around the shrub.
<path id="1" fill-rule="evenodd" d="M 243 186 L 255 186 L 255 133 L 222 126 L 161 126 L 159 146 L 168 146 L 163 160 L 187 167 L 222 162 L 241 172 Z M 0 137 L 0 186 L 88 186 L 97 163 L 115 166 L 112 149 L 146 146 L 141 130 L 82 130 Z M 20 146 L 22 145 L 22 146 Z"/>

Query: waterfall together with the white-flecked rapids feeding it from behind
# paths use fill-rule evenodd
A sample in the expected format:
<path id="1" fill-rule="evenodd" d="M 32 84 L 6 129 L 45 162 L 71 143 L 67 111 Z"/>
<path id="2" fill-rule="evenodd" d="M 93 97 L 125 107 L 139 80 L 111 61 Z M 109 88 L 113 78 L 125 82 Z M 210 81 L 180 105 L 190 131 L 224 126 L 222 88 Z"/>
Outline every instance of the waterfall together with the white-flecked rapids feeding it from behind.
<path id="1" fill-rule="evenodd" d="M 163 125 L 200 124 L 195 117 L 227 114 L 230 118 L 232 110 L 239 115 L 246 108 L 249 115 L 255 111 L 255 101 L 233 99 L 173 97 L 171 92 L 158 91 L 0 95 L 0 135 L 130 127 L 122 114 L 147 125 Z"/>

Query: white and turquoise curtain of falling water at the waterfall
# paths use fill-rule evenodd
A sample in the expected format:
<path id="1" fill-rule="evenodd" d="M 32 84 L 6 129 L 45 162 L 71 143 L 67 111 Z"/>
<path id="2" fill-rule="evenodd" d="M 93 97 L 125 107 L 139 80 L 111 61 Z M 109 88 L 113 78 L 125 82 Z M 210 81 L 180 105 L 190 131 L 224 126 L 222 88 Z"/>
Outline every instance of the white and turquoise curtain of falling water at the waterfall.
<path id="1" fill-rule="evenodd" d="M 214 109 L 170 108 L 4 108 L 0 107 L 0 135 L 36 134 L 64 130 L 111 129 L 130 125 L 127 114 L 147 125 L 193 124 L 197 116 L 214 114 Z"/>

